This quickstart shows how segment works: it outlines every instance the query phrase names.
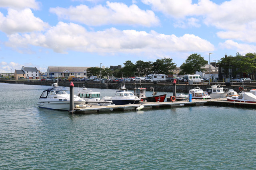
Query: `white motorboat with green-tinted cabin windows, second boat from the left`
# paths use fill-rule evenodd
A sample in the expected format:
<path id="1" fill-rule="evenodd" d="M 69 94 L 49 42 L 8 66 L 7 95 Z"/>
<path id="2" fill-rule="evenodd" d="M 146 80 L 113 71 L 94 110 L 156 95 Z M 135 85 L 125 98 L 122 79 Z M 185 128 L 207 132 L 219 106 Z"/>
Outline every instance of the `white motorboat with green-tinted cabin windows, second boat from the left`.
<path id="1" fill-rule="evenodd" d="M 92 90 L 88 90 L 86 87 L 83 87 L 82 90 L 78 90 L 77 96 L 84 99 L 86 104 L 98 106 L 108 106 L 112 104 L 112 101 L 101 100 L 100 92 L 93 92 Z"/>

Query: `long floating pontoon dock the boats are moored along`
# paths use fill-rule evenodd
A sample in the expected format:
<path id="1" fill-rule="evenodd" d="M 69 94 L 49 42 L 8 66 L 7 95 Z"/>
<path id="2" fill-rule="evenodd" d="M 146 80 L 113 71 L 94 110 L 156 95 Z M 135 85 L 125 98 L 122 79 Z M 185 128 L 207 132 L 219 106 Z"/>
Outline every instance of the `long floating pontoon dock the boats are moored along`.
<path id="1" fill-rule="evenodd" d="M 74 113 L 100 113 L 107 111 L 128 111 L 134 110 L 141 105 L 145 109 L 159 109 L 160 107 L 183 107 L 183 106 L 239 106 L 239 107 L 250 107 L 256 108 L 256 104 L 253 103 L 242 103 L 242 102 L 228 102 L 226 98 L 223 99 L 210 99 L 210 100 L 192 100 L 192 102 L 179 101 L 179 102 L 140 102 L 139 104 L 127 104 L 127 105 L 110 105 L 110 106 L 94 106 L 87 105 L 85 108 L 74 108 Z"/>

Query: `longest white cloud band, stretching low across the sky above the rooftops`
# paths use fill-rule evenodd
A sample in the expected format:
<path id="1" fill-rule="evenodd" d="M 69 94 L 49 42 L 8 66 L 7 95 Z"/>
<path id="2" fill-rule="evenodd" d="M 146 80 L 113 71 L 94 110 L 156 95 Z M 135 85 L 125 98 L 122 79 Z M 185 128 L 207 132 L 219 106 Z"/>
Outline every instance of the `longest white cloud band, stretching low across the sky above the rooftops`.
<path id="1" fill-rule="evenodd" d="M 154 50 L 188 52 L 213 51 L 214 46 L 205 39 L 192 34 L 182 37 L 165 35 L 156 31 L 118 30 L 87 31 L 75 23 L 59 22 L 45 34 L 31 33 L 10 35 L 6 43 L 13 48 L 35 45 L 53 49 L 58 53 L 69 50 L 96 53 L 140 53 Z"/>

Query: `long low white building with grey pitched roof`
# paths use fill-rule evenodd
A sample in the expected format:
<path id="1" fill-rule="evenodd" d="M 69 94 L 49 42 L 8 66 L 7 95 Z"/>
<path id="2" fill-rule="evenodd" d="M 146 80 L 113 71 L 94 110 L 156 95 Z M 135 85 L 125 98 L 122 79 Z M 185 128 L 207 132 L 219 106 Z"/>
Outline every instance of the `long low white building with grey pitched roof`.
<path id="1" fill-rule="evenodd" d="M 74 76 L 77 78 L 84 78 L 87 76 L 87 68 L 90 67 L 63 67 L 63 66 L 48 66 L 47 77 L 65 77 Z"/>

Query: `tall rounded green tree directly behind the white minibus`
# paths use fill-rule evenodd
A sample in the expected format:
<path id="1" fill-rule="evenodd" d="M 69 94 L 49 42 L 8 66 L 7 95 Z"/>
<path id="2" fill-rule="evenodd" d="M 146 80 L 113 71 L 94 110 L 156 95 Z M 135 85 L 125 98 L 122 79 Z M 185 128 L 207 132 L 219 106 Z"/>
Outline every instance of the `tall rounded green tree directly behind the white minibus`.
<path id="1" fill-rule="evenodd" d="M 195 53 L 186 59 L 185 63 L 182 63 L 180 66 L 180 69 L 185 74 L 196 74 L 196 71 L 204 71 L 205 69 L 202 68 L 205 64 L 208 64 L 208 61 L 204 59 L 204 57 L 201 57 L 201 55 Z"/>

